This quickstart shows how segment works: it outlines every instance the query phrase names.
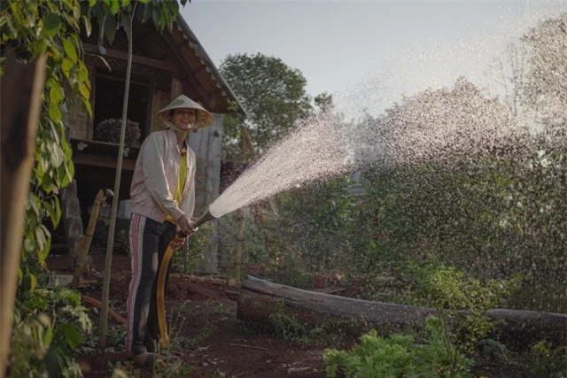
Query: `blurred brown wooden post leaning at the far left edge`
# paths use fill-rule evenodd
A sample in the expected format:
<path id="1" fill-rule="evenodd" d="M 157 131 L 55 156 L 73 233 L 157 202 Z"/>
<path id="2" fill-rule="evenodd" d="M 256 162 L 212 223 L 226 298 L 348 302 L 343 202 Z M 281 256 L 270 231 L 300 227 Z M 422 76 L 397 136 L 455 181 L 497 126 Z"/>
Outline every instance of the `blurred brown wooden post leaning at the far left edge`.
<path id="1" fill-rule="evenodd" d="M 10 356 L 12 311 L 16 297 L 26 198 L 35 156 L 35 135 L 45 81 L 44 55 L 25 66 L 6 60 L 0 101 L 2 166 L 0 239 L 0 378 Z"/>

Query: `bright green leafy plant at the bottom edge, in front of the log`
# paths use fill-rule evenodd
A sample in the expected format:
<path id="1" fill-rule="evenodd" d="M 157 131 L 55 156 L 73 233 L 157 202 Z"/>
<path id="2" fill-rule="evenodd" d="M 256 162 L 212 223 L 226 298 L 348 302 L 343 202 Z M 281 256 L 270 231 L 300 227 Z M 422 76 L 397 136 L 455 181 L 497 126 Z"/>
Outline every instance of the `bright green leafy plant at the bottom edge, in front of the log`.
<path id="1" fill-rule="evenodd" d="M 327 349 L 323 359 L 328 377 L 339 373 L 346 377 L 467 377 L 472 359 L 463 355 L 454 371 L 443 344 L 443 330 L 438 318 L 426 320 L 429 338 L 417 343 L 413 336 L 392 334 L 387 338 L 377 336 L 376 329 L 361 336 L 361 342 L 351 351 Z"/>

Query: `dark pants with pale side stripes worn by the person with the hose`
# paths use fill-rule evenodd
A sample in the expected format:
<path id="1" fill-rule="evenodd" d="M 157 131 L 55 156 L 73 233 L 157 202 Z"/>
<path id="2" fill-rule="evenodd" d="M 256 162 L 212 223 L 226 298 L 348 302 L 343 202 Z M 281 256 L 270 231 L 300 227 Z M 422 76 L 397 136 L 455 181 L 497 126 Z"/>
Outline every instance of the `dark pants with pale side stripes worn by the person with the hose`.
<path id="1" fill-rule="evenodd" d="M 175 226 L 132 213 L 130 250 L 132 281 L 128 290 L 126 351 L 136 356 L 155 351 L 159 343 L 156 305 L 159 266 L 167 245 L 175 236 Z M 167 277 L 171 264 L 167 267 Z M 167 286 L 167 278 L 166 278 Z"/>

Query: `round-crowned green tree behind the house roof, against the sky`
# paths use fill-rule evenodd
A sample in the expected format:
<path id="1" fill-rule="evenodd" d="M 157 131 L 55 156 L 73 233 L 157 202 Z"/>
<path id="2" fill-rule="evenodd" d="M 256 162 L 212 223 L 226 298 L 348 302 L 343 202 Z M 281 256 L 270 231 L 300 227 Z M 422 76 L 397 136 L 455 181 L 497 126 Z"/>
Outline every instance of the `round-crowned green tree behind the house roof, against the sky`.
<path id="1" fill-rule="evenodd" d="M 221 74 L 244 105 L 256 153 L 291 131 L 297 120 L 312 112 L 311 98 L 305 86 L 307 80 L 298 69 L 282 59 L 261 53 L 229 55 L 220 66 Z M 239 129 L 229 127 L 224 145 L 231 158 L 237 158 Z M 232 132 L 230 131 L 232 130 Z"/>

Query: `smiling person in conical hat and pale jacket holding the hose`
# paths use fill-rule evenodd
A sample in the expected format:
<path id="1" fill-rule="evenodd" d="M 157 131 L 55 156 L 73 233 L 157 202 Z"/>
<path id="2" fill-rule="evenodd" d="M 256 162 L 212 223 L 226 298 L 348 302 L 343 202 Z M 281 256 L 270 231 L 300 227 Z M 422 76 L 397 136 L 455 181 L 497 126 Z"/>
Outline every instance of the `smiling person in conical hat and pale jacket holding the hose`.
<path id="1" fill-rule="evenodd" d="M 158 117 L 166 123 L 167 130 L 153 132 L 144 140 L 130 187 L 132 281 L 128 291 L 126 350 L 136 364 L 145 366 L 156 360 L 159 341 L 159 265 L 177 230 L 185 235 L 193 232 L 196 158 L 187 136 L 190 130 L 213 122 L 210 112 L 183 95 L 160 110 Z"/>

